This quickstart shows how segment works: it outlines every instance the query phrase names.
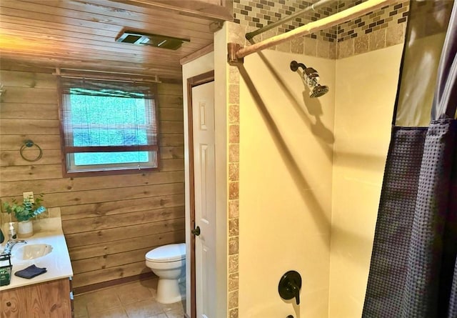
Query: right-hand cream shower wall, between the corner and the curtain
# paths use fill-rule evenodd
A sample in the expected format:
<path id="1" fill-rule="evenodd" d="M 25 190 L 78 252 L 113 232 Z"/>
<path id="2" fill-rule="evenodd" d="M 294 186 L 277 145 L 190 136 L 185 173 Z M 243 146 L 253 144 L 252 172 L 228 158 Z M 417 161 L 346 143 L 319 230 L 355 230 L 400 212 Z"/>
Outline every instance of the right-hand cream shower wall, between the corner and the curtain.
<path id="1" fill-rule="evenodd" d="M 361 317 L 402 48 L 336 61 L 331 318 Z"/>

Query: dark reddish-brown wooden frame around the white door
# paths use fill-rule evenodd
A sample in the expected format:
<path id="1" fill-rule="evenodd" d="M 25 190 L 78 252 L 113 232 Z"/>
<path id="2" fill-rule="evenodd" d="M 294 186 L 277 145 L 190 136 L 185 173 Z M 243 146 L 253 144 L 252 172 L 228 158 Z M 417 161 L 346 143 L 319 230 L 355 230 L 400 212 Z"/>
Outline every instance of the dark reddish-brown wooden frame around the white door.
<path id="1" fill-rule="evenodd" d="M 188 142 L 189 142 L 189 213 L 190 224 L 189 229 L 195 228 L 195 187 L 194 187 L 194 126 L 192 114 L 194 106 L 192 105 L 192 89 L 195 86 L 214 81 L 214 70 L 207 71 L 203 74 L 189 77 L 187 79 L 187 126 L 188 126 Z M 196 268 L 195 268 L 195 236 L 189 232 L 189 242 L 191 245 L 191 317 L 196 318 Z M 189 264 L 189 263 L 188 263 Z"/>

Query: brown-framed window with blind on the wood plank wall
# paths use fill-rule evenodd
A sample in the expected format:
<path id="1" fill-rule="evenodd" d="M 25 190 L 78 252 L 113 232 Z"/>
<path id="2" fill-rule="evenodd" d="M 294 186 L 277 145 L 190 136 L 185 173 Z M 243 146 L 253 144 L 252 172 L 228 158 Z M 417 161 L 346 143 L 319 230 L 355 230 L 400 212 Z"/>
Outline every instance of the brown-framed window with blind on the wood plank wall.
<path id="1" fill-rule="evenodd" d="M 66 177 L 158 169 L 155 84 L 64 77 L 60 84 Z"/>

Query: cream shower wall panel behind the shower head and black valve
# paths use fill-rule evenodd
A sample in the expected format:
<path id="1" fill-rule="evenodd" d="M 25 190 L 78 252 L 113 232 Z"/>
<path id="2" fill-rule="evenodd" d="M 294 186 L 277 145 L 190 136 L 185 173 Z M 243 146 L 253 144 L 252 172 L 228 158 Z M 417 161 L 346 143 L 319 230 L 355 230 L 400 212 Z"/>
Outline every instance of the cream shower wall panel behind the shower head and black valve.
<path id="1" fill-rule="evenodd" d="M 331 91 L 309 99 L 292 60 Z M 327 317 L 335 61 L 267 50 L 243 66 L 256 93 L 241 71 L 238 317 Z M 300 306 L 278 295 L 291 269 Z"/>

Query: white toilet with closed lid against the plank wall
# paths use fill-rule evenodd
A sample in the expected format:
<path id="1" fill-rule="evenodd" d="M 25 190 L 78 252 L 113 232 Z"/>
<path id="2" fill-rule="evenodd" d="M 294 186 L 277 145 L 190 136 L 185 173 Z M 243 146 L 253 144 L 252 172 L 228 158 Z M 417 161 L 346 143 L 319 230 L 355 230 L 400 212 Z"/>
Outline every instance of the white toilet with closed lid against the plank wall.
<path id="1" fill-rule="evenodd" d="M 186 244 L 169 244 L 146 253 L 146 266 L 159 277 L 156 301 L 162 304 L 179 302 L 180 279 L 186 277 Z"/>

